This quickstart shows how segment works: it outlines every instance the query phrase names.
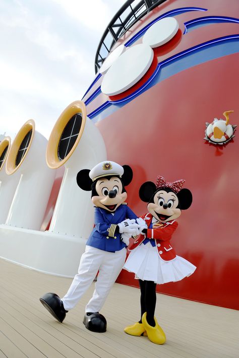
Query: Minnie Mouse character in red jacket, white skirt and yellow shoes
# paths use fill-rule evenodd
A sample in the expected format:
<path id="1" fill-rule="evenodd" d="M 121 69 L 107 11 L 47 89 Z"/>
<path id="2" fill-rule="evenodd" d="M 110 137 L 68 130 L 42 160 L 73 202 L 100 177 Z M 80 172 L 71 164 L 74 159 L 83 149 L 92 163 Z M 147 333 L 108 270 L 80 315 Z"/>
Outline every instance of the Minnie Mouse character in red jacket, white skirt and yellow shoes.
<path id="1" fill-rule="evenodd" d="M 147 335 L 157 344 L 166 340 L 162 328 L 154 317 L 156 306 L 156 284 L 175 282 L 190 276 L 196 269 L 192 263 L 177 256 L 170 239 L 178 224 L 181 210 L 192 204 L 192 193 L 183 188 L 185 180 L 168 183 L 161 176 L 156 185 L 146 182 L 141 185 L 139 196 L 148 202 L 148 213 L 136 221 L 140 225 L 141 235 L 129 248 L 131 253 L 124 268 L 135 272 L 141 291 L 141 319 L 125 332 L 134 336 Z"/>

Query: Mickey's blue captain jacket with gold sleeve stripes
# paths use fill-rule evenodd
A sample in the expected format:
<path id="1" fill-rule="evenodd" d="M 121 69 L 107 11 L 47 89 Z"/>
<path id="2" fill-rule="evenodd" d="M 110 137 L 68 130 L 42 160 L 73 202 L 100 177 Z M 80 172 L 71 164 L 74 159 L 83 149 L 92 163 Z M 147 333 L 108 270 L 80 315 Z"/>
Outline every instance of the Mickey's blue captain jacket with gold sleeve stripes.
<path id="1" fill-rule="evenodd" d="M 109 252 L 122 250 L 126 247 L 126 244 L 121 241 L 121 234 L 114 232 L 116 226 L 125 219 L 137 218 L 137 215 L 128 207 L 127 203 L 118 206 L 113 215 L 108 210 L 95 207 L 95 227 L 86 245 Z"/>

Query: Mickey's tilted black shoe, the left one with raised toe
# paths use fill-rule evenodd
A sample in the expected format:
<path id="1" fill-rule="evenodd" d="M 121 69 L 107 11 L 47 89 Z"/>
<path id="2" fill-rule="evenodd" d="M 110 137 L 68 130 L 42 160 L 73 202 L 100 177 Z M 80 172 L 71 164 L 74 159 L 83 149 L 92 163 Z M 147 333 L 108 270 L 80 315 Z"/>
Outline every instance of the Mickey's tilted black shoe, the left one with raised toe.
<path id="1" fill-rule="evenodd" d="M 61 323 L 64 321 L 68 311 L 65 310 L 63 302 L 59 296 L 48 293 L 40 298 L 40 302 L 47 309 L 47 311 L 49 311 L 50 314 L 57 319 L 57 321 Z"/>

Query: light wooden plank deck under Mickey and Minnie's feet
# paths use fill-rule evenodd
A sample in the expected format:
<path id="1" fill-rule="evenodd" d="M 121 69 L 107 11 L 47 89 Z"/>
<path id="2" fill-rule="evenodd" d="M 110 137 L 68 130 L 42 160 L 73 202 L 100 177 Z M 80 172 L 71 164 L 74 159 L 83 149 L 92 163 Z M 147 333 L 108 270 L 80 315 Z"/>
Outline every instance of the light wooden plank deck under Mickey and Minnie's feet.
<path id="1" fill-rule="evenodd" d="M 0 358 L 238 358 L 239 312 L 157 294 L 156 317 L 167 341 L 124 333 L 139 319 L 139 290 L 114 284 L 102 314 L 107 332 L 88 331 L 82 319 L 93 284 L 63 324 L 40 304 L 46 292 L 63 296 L 71 279 L 42 274 L 0 259 Z"/>

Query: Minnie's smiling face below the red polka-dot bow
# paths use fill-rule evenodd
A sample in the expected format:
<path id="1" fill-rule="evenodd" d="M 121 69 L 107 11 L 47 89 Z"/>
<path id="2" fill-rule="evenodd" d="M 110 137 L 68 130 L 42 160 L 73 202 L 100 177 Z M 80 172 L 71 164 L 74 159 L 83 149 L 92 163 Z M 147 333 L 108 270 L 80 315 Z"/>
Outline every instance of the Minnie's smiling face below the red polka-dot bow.
<path id="1" fill-rule="evenodd" d="M 181 209 L 177 207 L 178 198 L 173 191 L 158 190 L 151 201 L 148 210 L 158 221 L 166 223 L 180 217 Z"/>

